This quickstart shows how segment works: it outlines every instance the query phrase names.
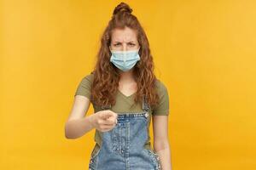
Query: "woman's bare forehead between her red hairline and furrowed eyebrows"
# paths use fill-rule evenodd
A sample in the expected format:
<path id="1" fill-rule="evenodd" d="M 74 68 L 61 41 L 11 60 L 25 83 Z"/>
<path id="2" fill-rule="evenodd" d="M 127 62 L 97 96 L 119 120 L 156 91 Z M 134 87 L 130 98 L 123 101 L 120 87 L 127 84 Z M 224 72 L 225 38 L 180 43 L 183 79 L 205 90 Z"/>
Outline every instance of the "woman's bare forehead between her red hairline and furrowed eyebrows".
<path id="1" fill-rule="evenodd" d="M 137 33 L 131 28 L 125 27 L 125 29 L 116 28 L 112 32 L 113 42 L 137 42 Z"/>

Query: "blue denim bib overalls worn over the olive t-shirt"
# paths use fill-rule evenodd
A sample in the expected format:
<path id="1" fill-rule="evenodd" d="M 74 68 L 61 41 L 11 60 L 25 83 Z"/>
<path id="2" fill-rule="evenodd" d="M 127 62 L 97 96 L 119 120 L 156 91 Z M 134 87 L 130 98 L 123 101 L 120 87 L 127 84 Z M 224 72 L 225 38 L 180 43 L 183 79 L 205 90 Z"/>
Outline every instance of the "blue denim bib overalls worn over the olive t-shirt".
<path id="1" fill-rule="evenodd" d="M 111 107 L 111 106 L 110 106 Z M 89 170 L 160 170 L 160 157 L 144 148 L 149 113 L 145 98 L 142 112 L 117 113 L 117 124 L 102 132 L 102 144 L 90 155 Z"/>

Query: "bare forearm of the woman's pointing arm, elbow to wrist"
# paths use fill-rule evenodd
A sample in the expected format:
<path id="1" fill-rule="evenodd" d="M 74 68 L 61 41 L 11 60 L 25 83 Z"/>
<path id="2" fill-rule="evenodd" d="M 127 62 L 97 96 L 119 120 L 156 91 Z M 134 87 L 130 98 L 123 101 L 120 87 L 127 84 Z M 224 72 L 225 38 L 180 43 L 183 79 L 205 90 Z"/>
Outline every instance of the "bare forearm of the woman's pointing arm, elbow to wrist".
<path id="1" fill-rule="evenodd" d="M 93 115 L 68 121 L 65 125 L 66 138 L 77 139 L 93 129 L 94 127 L 91 123 L 91 116 Z"/>

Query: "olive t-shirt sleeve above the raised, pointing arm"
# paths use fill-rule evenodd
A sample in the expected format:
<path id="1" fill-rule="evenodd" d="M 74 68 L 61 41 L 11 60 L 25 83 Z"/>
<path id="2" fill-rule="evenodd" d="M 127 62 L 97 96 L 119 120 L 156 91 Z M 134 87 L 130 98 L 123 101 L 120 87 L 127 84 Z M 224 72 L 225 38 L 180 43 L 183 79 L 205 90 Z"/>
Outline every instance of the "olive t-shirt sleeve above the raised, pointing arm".
<path id="1" fill-rule="evenodd" d="M 91 74 L 82 78 L 82 80 L 79 82 L 79 85 L 76 89 L 74 96 L 83 95 L 83 96 L 87 97 L 88 99 L 90 99 L 90 97 L 91 97 L 90 89 L 91 89 L 91 84 L 92 84 L 91 78 L 92 78 Z"/>

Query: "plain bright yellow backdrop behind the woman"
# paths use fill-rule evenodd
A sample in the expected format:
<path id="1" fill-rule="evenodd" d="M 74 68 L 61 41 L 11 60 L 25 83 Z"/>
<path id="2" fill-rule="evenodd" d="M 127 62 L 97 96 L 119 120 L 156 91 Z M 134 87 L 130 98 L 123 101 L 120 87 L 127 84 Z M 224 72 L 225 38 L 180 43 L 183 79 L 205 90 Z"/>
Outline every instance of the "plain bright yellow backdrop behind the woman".
<path id="1" fill-rule="evenodd" d="M 0 169 L 88 169 L 94 131 L 64 125 L 120 1 L 1 2 Z M 125 2 L 168 88 L 173 169 L 256 169 L 256 2 Z"/>

